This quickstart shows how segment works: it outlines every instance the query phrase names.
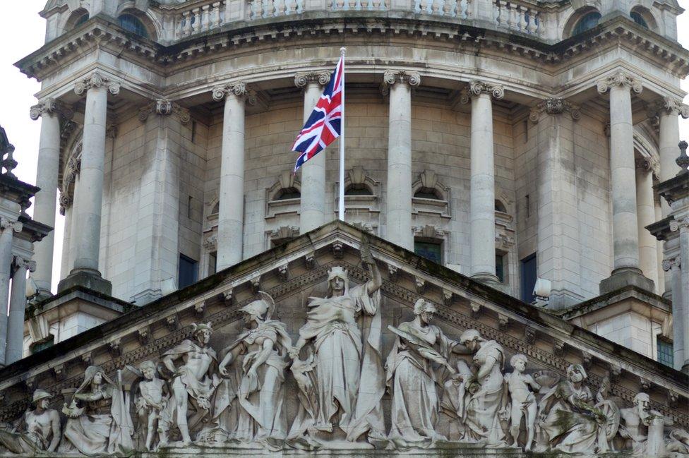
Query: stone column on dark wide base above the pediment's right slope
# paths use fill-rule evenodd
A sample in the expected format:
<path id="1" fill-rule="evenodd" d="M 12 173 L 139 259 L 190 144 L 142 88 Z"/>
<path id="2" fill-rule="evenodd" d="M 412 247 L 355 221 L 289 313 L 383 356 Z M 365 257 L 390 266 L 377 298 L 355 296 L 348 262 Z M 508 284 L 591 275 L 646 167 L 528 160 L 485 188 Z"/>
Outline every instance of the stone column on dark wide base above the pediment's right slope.
<path id="1" fill-rule="evenodd" d="M 618 71 L 597 83 L 598 92 L 610 92 L 610 181 L 613 203 L 613 271 L 600 284 L 601 294 L 628 284 L 654 291 L 639 268 L 632 98 L 641 92 L 640 80 Z M 634 188 L 632 188 L 634 187 Z"/>

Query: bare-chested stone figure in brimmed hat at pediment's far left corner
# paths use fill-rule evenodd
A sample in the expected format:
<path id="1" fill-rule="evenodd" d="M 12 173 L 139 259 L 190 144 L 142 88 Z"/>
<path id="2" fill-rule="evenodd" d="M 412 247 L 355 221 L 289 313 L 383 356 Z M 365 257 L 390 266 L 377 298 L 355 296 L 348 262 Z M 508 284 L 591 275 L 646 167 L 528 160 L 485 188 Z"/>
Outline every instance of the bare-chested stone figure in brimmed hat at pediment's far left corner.
<path id="1" fill-rule="evenodd" d="M 18 428 L 0 429 L 0 450 L 27 454 L 54 452 L 60 443 L 60 414 L 49 409 L 52 396 L 43 390 L 33 393 L 33 410 L 20 418 Z"/>

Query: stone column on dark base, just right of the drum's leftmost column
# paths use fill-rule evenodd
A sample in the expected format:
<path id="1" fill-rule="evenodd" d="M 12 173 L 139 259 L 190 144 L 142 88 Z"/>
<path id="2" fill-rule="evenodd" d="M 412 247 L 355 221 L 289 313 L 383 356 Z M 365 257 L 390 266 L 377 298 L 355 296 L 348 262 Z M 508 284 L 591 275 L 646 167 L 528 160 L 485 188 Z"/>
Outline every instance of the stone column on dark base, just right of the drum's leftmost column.
<path id="1" fill-rule="evenodd" d="M 74 195 L 79 222 L 79 236 L 73 237 L 76 258 L 59 290 L 76 284 L 100 291 L 112 292 L 110 282 L 102 278 L 98 270 L 100 251 L 100 224 L 103 200 L 103 167 L 105 161 L 105 131 L 107 128 L 107 95 L 119 94 L 120 85 L 100 73 L 84 78 L 75 85 L 77 95 L 86 93 L 84 130 L 81 152 L 79 188 Z"/>

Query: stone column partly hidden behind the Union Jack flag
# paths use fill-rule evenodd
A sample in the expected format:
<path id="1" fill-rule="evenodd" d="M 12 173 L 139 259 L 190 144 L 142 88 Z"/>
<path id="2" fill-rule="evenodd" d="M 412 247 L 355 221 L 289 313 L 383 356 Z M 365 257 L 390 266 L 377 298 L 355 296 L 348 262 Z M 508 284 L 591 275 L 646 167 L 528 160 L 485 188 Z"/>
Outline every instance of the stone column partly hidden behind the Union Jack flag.
<path id="1" fill-rule="evenodd" d="M 296 87 L 304 88 L 304 123 L 316 107 L 323 86 L 329 81 L 328 71 L 297 73 L 294 77 Z M 305 234 L 325 222 L 325 152 L 320 152 L 301 166 L 300 232 Z"/>

